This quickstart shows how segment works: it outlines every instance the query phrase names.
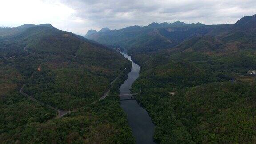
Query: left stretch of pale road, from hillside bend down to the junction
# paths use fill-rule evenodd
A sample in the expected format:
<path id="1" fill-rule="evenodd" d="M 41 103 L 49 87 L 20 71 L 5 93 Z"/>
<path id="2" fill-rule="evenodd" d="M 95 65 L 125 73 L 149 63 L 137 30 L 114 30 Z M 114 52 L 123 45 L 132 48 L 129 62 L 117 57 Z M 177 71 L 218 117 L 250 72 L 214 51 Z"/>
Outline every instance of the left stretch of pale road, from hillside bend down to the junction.
<path id="1" fill-rule="evenodd" d="M 64 111 L 64 110 L 60 110 L 60 109 L 58 109 L 58 108 L 54 108 L 54 107 L 52 107 L 52 106 L 50 106 L 50 105 L 48 105 L 48 104 L 44 104 L 44 103 L 42 103 L 42 102 L 36 100 L 36 99 L 33 98 L 32 96 L 29 96 L 28 94 L 26 94 L 25 92 L 23 92 L 23 87 L 20 88 L 20 93 L 21 93 L 23 96 L 28 97 L 30 100 L 32 100 L 32 101 L 34 101 L 34 102 L 37 102 L 37 103 L 42 104 L 42 105 L 45 105 L 45 106 L 47 106 L 48 108 L 57 111 L 57 112 L 58 112 L 57 118 L 62 117 L 62 116 L 64 116 L 65 114 L 69 113 L 68 111 Z"/>

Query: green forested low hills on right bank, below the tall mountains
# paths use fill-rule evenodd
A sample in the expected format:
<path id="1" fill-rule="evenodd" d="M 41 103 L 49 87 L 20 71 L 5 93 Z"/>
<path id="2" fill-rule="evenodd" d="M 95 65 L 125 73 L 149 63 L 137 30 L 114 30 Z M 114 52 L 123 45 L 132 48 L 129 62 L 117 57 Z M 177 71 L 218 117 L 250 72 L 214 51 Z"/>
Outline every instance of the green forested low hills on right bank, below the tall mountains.
<path id="1" fill-rule="evenodd" d="M 254 142 L 255 77 L 250 84 L 242 80 L 256 68 L 255 56 L 183 52 L 133 58 L 142 68 L 132 91 L 156 124 L 157 142 Z M 230 79 L 238 82 L 224 82 Z"/>

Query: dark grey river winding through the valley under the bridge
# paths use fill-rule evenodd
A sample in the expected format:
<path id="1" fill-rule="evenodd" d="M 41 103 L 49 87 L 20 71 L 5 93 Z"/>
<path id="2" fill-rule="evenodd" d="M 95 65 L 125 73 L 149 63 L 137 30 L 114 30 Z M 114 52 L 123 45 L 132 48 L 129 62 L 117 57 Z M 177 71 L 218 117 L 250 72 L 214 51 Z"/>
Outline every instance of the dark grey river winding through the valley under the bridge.
<path id="1" fill-rule="evenodd" d="M 124 57 L 131 60 L 131 56 L 122 53 Z M 140 66 L 132 61 L 132 70 L 128 73 L 128 78 L 124 84 L 121 85 L 119 93 L 130 94 L 132 83 L 139 77 Z M 129 99 L 131 96 L 120 96 L 120 100 Z M 155 126 L 152 123 L 151 118 L 148 116 L 148 112 L 142 108 L 136 100 L 123 100 L 120 101 L 121 108 L 128 115 L 128 124 L 132 128 L 132 135 L 136 139 L 136 144 L 155 144 L 153 142 L 153 134 Z"/>

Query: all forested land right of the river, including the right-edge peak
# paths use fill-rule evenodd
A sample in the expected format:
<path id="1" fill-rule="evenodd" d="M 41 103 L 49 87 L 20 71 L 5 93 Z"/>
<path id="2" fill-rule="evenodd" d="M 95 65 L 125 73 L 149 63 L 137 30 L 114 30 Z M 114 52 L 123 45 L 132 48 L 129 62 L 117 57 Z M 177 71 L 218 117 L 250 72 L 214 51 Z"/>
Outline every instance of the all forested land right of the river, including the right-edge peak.
<path id="1" fill-rule="evenodd" d="M 255 143 L 256 15 L 172 48 L 135 53 L 132 91 L 172 143 Z"/>

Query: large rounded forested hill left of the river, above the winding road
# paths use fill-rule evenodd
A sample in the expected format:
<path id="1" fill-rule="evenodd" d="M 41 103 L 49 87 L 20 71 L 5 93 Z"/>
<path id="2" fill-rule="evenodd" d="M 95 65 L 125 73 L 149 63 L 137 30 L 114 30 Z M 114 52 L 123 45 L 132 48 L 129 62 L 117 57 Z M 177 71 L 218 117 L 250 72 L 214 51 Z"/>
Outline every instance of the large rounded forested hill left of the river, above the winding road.
<path id="1" fill-rule="evenodd" d="M 104 93 L 118 73 L 129 65 L 120 53 L 110 48 L 45 25 L 29 25 L 23 32 L 2 38 L 0 52 L 3 62 L 12 62 L 11 65 L 28 80 L 23 81 L 26 92 L 38 95 L 48 89 L 49 93 L 45 96 L 51 97 L 51 93 L 55 93 L 52 89 L 59 86 L 60 89 L 56 89 L 58 96 L 59 92 L 68 91 L 63 94 L 66 102 L 74 97 L 90 99 L 88 102 L 95 100 Z M 50 83 L 52 88 L 49 88 Z M 78 89 L 82 87 L 84 89 Z M 73 92 L 72 88 L 76 91 Z M 53 102 L 44 96 L 37 97 L 66 110 L 78 108 L 86 101 L 77 102 L 80 104 L 69 103 L 73 105 L 70 107 L 64 103 L 64 98 L 61 100 L 59 97 L 58 101 Z"/>

